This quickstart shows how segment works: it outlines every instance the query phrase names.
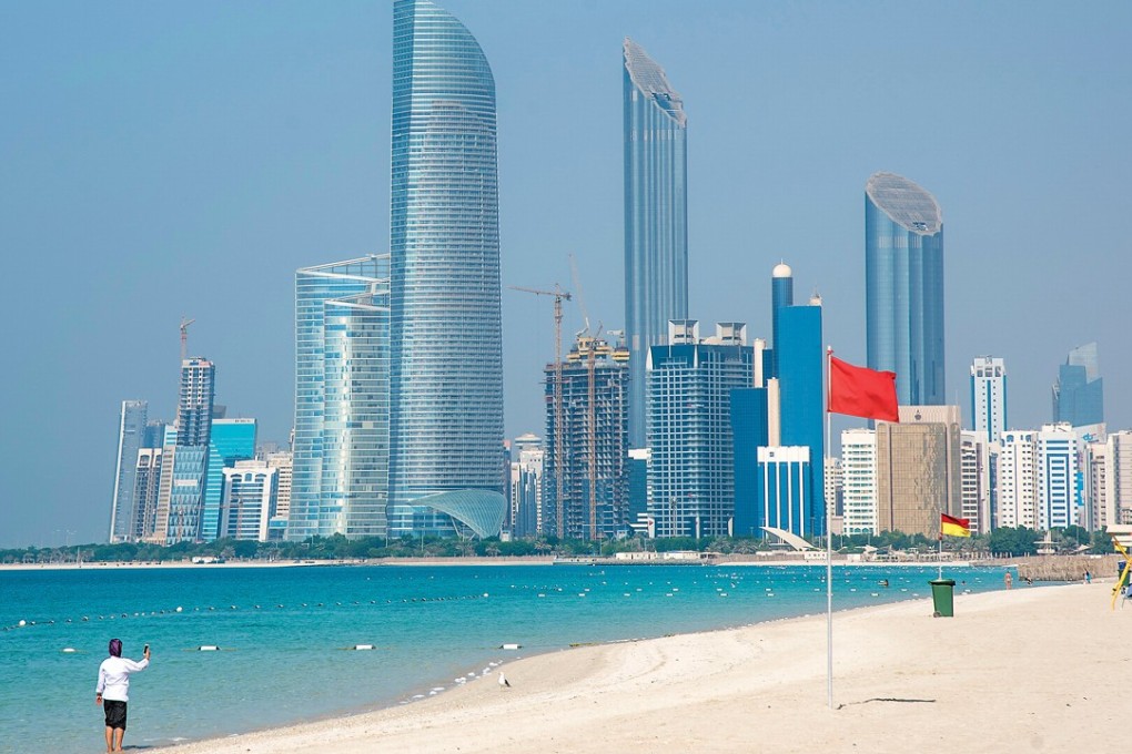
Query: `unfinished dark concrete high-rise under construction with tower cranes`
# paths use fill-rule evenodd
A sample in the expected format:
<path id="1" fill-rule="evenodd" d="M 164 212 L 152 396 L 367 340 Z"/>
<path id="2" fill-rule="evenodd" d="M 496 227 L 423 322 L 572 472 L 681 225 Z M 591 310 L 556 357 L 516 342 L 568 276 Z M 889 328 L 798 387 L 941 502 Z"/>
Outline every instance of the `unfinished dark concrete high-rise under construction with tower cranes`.
<path id="1" fill-rule="evenodd" d="M 560 390 L 547 364 L 544 534 L 606 539 L 628 528 L 628 362 L 624 343 L 582 335 L 561 364 Z"/>

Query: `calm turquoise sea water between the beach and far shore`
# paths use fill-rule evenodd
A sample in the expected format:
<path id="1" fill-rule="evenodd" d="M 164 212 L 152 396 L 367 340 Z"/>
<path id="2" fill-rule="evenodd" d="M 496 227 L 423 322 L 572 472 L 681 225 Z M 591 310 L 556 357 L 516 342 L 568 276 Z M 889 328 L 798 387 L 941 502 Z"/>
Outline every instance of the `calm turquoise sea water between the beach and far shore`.
<path id="1" fill-rule="evenodd" d="M 833 573 L 846 609 L 927 597 L 936 571 Z M 945 575 L 959 592 L 1003 586 L 1000 569 Z M 153 746 L 398 704 L 572 643 L 824 610 L 825 569 L 804 565 L 0 571 L 0 752 L 100 751 L 94 685 L 113 636 L 127 657 L 152 647 L 127 745 Z"/>

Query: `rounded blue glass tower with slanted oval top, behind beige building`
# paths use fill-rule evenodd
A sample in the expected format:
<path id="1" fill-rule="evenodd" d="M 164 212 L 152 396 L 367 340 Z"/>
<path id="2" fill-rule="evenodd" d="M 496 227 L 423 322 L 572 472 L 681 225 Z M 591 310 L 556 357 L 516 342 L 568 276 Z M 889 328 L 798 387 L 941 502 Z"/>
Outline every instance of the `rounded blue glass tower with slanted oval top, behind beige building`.
<path id="1" fill-rule="evenodd" d="M 943 214 L 911 181 L 865 185 L 868 366 L 897 373 L 903 406 L 938 406 L 943 385 Z"/>

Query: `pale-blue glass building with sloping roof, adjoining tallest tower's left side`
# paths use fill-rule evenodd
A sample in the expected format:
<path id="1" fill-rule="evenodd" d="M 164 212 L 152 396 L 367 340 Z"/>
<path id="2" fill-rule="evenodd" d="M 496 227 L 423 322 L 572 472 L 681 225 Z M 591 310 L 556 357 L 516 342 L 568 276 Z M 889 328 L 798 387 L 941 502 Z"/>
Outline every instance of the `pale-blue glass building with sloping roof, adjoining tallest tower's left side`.
<path id="1" fill-rule="evenodd" d="M 388 295 L 388 257 L 295 274 L 290 539 L 385 532 Z"/>

